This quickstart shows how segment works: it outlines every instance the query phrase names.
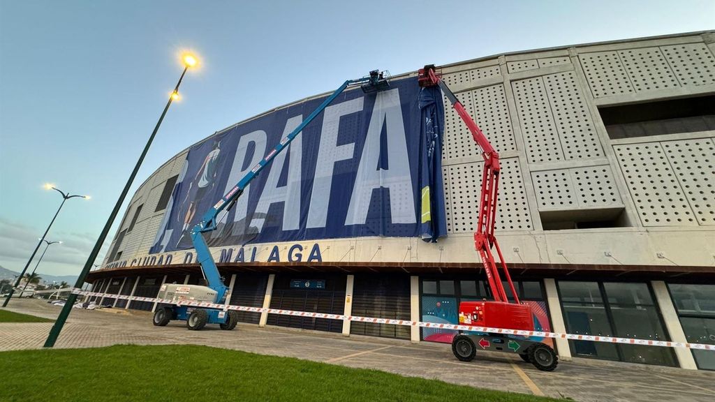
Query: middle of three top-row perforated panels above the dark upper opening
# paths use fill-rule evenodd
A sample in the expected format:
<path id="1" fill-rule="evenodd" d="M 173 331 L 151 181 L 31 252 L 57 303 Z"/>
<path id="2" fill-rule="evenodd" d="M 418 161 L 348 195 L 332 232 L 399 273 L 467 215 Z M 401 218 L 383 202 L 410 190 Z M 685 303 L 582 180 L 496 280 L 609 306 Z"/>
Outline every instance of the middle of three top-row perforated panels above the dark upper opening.
<path id="1" fill-rule="evenodd" d="M 665 57 L 657 47 L 618 51 L 636 92 L 679 87 Z"/>

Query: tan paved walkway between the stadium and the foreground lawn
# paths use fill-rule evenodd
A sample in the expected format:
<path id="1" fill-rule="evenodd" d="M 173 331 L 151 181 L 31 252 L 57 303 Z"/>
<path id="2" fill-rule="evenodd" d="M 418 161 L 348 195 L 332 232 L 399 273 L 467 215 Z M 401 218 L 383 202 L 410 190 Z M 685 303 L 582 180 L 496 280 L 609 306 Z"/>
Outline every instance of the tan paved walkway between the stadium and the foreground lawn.
<path id="1" fill-rule="evenodd" d="M 55 318 L 60 310 L 40 300 L 13 300 L 8 309 L 46 318 Z M 478 354 L 475 361 L 462 363 L 452 356 L 450 345 L 438 343 L 355 335 L 345 338 L 242 323 L 232 331 L 209 325 L 194 332 L 180 322 L 154 327 L 149 313 L 111 311 L 73 310 L 56 347 L 192 343 L 583 402 L 715 401 L 715 372 L 709 371 L 577 359 L 561 362 L 556 371 L 545 373 L 518 356 L 500 353 Z M 51 323 L 0 323 L 0 350 L 41 348 L 50 328 Z"/>

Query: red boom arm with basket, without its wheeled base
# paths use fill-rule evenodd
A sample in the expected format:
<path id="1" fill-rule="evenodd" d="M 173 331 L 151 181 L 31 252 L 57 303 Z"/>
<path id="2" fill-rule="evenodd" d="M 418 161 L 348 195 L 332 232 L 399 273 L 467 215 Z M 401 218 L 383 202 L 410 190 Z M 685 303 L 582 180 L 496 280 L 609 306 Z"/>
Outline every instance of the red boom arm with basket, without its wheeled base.
<path id="1" fill-rule="evenodd" d="M 420 87 L 433 87 L 438 85 L 440 89 L 442 89 L 445 97 L 449 99 L 452 107 L 455 109 L 457 114 L 459 114 L 459 117 L 461 117 L 463 122 L 467 125 L 469 131 L 472 133 L 474 142 L 476 142 L 482 149 L 484 171 L 482 174 L 482 191 L 479 198 L 477 229 L 474 233 L 474 247 L 482 259 L 489 288 L 491 289 L 494 300 L 506 303 L 509 301 L 506 292 L 504 291 L 504 286 L 501 283 L 501 277 L 491 250 L 492 246 L 495 247 L 496 252 L 499 255 L 501 268 L 507 282 L 509 283 L 509 287 L 511 288 L 511 294 L 514 295 L 516 303 L 519 303 L 518 295 L 514 289 L 513 283 L 511 282 L 509 270 L 504 262 L 503 255 L 501 255 L 499 243 L 494 236 L 499 172 L 501 170 L 501 166 L 499 165 L 499 154 L 496 152 L 494 147 L 492 147 L 492 144 L 490 144 L 482 130 L 479 129 L 474 120 L 469 116 L 462 103 L 459 102 L 459 99 L 457 99 L 455 94 L 442 80 L 440 74 L 436 72 L 434 65 L 430 64 L 425 66 L 425 68 L 420 69 L 418 80 Z"/>

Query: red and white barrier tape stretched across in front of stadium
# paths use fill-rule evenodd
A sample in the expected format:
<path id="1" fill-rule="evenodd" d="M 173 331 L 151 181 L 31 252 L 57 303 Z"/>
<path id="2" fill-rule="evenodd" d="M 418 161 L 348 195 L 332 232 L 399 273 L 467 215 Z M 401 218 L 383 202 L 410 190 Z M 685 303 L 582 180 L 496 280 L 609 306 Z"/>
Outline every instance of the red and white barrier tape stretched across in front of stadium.
<path id="1" fill-rule="evenodd" d="M 141 296 L 127 296 L 127 295 L 108 295 L 106 293 L 99 292 L 88 292 L 86 290 L 81 290 L 74 288 L 72 293 L 76 295 L 86 295 L 86 296 L 99 296 L 102 298 L 119 299 L 119 300 L 134 300 L 134 301 L 144 301 L 152 303 L 162 303 L 162 304 L 173 304 L 180 306 L 189 307 L 202 307 L 202 308 L 215 308 L 217 310 L 236 310 L 236 311 L 248 311 L 251 313 L 269 313 L 269 314 L 280 314 L 280 315 L 294 315 L 297 317 L 307 317 L 307 318 L 329 318 L 332 320 L 350 320 L 357 321 L 360 323 L 378 323 L 378 324 L 393 324 L 393 325 L 409 325 L 418 326 L 422 328 L 438 328 L 444 330 L 469 330 L 475 332 L 483 333 L 501 333 L 504 335 L 521 335 L 521 336 L 534 336 L 540 338 L 561 338 L 561 339 L 571 339 L 571 340 L 587 340 L 591 342 L 608 342 L 608 343 L 626 343 L 629 345 L 646 345 L 646 346 L 664 346 L 667 348 L 689 348 L 697 350 L 715 350 L 715 345 L 706 345 L 704 343 L 682 343 L 682 342 L 671 342 L 669 340 L 647 340 L 647 339 L 635 339 L 635 338 L 616 338 L 613 336 L 597 336 L 597 335 L 576 335 L 573 333 L 553 333 L 553 332 L 541 332 L 534 330 L 510 330 L 505 328 L 489 328 L 489 327 L 478 327 L 472 325 L 458 325 L 458 324 L 441 324 L 441 323 L 423 323 L 421 321 L 410 321 L 410 320 L 393 320 L 390 318 L 370 318 L 370 317 L 359 317 L 357 315 L 340 315 L 340 314 L 328 314 L 328 313 L 310 313 L 307 311 L 293 311 L 293 310 L 280 310 L 277 308 L 262 308 L 262 307 L 245 307 L 242 305 L 226 305 L 208 302 L 199 302 L 196 300 L 179 300 L 178 302 L 170 299 L 159 299 L 159 298 L 144 298 Z"/>

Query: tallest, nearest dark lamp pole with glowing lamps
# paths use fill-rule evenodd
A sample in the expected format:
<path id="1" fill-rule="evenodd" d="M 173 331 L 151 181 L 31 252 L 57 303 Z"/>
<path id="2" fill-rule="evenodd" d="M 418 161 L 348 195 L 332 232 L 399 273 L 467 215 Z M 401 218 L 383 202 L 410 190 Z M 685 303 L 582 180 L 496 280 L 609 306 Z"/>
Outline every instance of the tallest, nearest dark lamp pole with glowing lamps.
<path id="1" fill-rule="evenodd" d="M 137 165 L 134 166 L 134 171 L 132 171 L 132 175 L 129 175 L 127 184 L 124 185 L 124 190 L 122 190 L 122 194 L 119 195 L 119 200 L 117 200 L 117 204 L 114 205 L 112 214 L 109 215 L 109 219 L 107 219 L 107 223 L 104 225 L 104 229 L 102 229 L 102 233 L 100 233 L 99 238 L 97 239 L 97 243 L 94 244 L 94 249 L 92 249 L 92 253 L 89 253 L 89 257 L 87 258 L 87 263 L 84 263 L 84 268 L 82 268 L 82 273 L 79 274 L 79 277 L 77 278 L 77 283 L 74 284 L 74 288 L 82 288 L 82 284 L 84 284 L 84 278 L 87 278 L 87 274 L 89 273 L 89 270 L 92 269 L 92 264 L 94 263 L 94 260 L 97 259 L 97 254 L 99 254 L 99 249 L 102 248 L 102 244 L 104 244 L 104 240 L 107 239 L 107 233 L 109 233 L 109 228 L 112 227 L 112 223 L 114 223 L 114 218 L 117 217 L 117 213 L 119 213 L 119 208 L 122 207 L 124 198 L 127 197 L 127 192 L 129 192 L 129 187 L 131 187 L 132 182 L 134 182 L 134 177 L 137 176 L 137 172 L 139 172 L 139 167 L 141 167 L 142 162 L 144 162 L 144 157 L 147 156 L 147 152 L 149 151 L 149 146 L 151 146 L 152 141 L 154 141 L 154 137 L 157 135 L 157 132 L 159 131 L 159 126 L 162 125 L 162 121 L 164 120 L 164 116 L 167 114 L 167 111 L 169 110 L 169 106 L 171 106 L 171 104 L 172 104 L 172 100 L 179 98 L 179 85 L 181 85 L 182 79 L 184 79 L 184 75 L 186 74 L 189 67 L 194 67 L 194 65 L 197 64 L 196 57 L 194 57 L 191 54 L 184 54 L 184 56 L 182 57 L 182 61 L 184 62 L 184 72 L 181 73 L 181 77 L 179 77 L 179 82 L 177 82 L 177 86 L 174 87 L 174 91 L 169 96 L 169 101 L 167 102 L 167 106 L 164 107 L 164 112 L 162 112 L 162 115 L 159 117 L 159 121 L 157 122 L 156 127 L 154 127 L 154 132 L 152 132 L 152 135 L 149 136 L 147 145 L 144 146 L 144 151 L 142 152 L 142 155 L 139 156 L 139 160 L 137 161 Z M 64 327 L 64 323 L 67 320 L 67 316 L 69 316 L 69 313 L 72 310 L 72 306 L 74 305 L 75 300 L 77 300 L 77 295 L 75 293 L 70 293 L 69 298 L 67 298 L 67 301 L 64 303 L 64 307 L 62 308 L 61 312 L 57 316 L 57 320 L 55 320 L 54 325 L 52 325 L 52 329 L 49 331 L 49 335 L 47 335 L 47 339 L 45 340 L 45 343 L 44 343 L 45 348 L 51 348 L 54 346 L 54 343 L 57 341 L 57 338 L 59 337 L 59 333 L 61 332 L 62 328 Z"/>

